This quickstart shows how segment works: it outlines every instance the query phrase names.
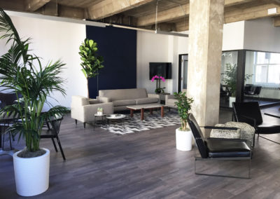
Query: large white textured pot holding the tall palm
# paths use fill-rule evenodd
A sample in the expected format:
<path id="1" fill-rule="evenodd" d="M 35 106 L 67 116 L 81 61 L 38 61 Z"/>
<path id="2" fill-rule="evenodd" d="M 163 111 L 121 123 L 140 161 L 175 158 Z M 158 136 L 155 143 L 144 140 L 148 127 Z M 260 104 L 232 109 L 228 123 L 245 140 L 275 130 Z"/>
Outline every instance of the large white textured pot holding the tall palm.
<path id="1" fill-rule="evenodd" d="M 50 172 L 50 151 L 35 158 L 20 158 L 13 154 L 15 186 L 18 195 L 33 196 L 47 191 Z"/>

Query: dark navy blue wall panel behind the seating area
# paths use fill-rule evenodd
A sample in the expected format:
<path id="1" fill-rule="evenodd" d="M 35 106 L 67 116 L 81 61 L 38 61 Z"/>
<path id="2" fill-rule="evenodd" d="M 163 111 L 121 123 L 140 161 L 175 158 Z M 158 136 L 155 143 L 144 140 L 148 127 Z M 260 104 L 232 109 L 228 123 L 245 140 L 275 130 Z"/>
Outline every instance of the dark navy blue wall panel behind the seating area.
<path id="1" fill-rule="evenodd" d="M 90 78 L 90 97 L 99 90 L 136 88 L 137 86 L 137 31 L 117 27 L 86 27 L 88 39 L 97 42 L 98 53 L 104 57 L 104 68 L 98 78 Z"/>

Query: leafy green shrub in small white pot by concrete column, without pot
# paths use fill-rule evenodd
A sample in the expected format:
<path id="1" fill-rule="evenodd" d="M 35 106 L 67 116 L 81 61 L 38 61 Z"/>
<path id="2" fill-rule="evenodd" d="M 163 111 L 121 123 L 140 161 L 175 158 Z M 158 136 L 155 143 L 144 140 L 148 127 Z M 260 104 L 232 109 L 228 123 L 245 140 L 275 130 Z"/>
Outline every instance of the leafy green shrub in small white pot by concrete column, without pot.
<path id="1" fill-rule="evenodd" d="M 181 128 L 180 130 L 186 131 L 188 130 L 187 124 L 188 124 L 188 115 L 189 111 L 192 108 L 193 104 L 193 98 L 187 97 L 186 92 L 174 92 L 175 99 L 178 100 L 178 102 L 175 102 L 175 105 L 178 107 L 178 113 L 181 118 Z"/>

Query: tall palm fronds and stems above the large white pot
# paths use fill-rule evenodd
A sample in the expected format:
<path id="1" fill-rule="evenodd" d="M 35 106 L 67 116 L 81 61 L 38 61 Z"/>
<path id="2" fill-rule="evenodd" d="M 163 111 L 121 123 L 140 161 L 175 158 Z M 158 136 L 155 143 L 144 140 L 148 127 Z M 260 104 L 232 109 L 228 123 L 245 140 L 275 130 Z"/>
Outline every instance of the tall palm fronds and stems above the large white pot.
<path id="1" fill-rule="evenodd" d="M 1 8 L 0 33 L 0 39 L 6 39 L 10 45 L 8 52 L 0 57 L 1 90 L 15 92 L 18 99 L 17 104 L 4 107 L 0 114 L 20 118 L 21 122 L 15 123 L 9 128 L 9 132 L 19 133 L 19 139 L 25 138 L 27 151 L 39 151 L 45 119 L 69 111 L 61 106 L 42 111 L 51 92 L 57 91 L 65 95 L 62 87 L 64 79 L 59 77 L 64 64 L 58 60 L 42 67 L 40 59 L 29 54 L 29 39 L 20 39 L 10 17 Z"/>

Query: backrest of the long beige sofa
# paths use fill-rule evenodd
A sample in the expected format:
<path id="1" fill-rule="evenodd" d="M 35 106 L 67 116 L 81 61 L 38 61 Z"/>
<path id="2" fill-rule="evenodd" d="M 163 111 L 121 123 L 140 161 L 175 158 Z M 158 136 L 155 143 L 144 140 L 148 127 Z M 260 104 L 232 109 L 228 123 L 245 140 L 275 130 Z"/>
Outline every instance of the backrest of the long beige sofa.
<path id="1" fill-rule="evenodd" d="M 112 102 L 121 99 L 138 99 L 148 97 L 146 88 L 99 90 L 99 97 L 109 97 Z"/>

